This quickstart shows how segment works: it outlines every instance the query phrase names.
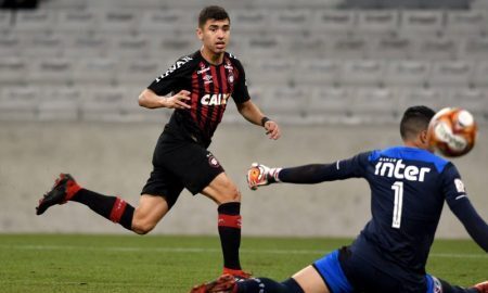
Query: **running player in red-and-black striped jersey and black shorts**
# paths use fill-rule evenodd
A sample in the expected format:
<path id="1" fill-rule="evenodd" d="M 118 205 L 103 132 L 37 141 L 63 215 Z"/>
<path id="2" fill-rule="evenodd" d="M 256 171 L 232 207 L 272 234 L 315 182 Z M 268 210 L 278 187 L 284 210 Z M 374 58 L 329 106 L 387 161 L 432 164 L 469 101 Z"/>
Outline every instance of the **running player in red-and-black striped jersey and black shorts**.
<path id="1" fill-rule="evenodd" d="M 280 138 L 280 128 L 251 101 L 241 62 L 226 52 L 230 28 L 224 9 L 214 5 L 203 9 L 196 29 L 202 48 L 179 59 L 139 95 L 143 107 L 175 110 L 157 141 L 154 168 L 142 189 L 139 206 L 134 208 L 117 196 L 84 189 L 70 175 L 61 174 L 51 191 L 40 200 L 37 214 L 54 204 L 74 201 L 126 229 L 145 234 L 187 188 L 218 205 L 223 272 L 236 278 L 248 277 L 239 258 L 241 193 L 207 148 L 231 97 L 240 114 L 262 126 L 270 139 Z"/>

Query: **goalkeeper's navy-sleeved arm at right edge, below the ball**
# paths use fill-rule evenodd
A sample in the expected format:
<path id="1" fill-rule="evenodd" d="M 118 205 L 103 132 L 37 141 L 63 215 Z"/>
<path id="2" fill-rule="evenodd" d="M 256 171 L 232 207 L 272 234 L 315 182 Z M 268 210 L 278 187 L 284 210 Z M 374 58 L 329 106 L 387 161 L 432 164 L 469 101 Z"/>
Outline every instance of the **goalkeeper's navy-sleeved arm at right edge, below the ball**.
<path id="1" fill-rule="evenodd" d="M 471 238 L 488 252 L 488 225 L 471 204 L 461 176 L 452 164 L 444 170 L 442 188 L 449 208 L 463 224 Z"/>

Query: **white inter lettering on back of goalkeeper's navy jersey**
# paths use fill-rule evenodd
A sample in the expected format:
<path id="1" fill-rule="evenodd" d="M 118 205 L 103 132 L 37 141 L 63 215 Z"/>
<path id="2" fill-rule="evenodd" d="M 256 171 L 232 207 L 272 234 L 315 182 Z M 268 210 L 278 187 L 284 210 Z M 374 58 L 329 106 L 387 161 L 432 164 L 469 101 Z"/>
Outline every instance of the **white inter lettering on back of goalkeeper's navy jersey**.
<path id="1" fill-rule="evenodd" d="M 402 160 L 381 157 L 375 165 L 374 175 L 423 182 L 425 175 L 431 171 L 431 168 L 419 168 L 415 165 L 406 165 L 402 162 Z"/>

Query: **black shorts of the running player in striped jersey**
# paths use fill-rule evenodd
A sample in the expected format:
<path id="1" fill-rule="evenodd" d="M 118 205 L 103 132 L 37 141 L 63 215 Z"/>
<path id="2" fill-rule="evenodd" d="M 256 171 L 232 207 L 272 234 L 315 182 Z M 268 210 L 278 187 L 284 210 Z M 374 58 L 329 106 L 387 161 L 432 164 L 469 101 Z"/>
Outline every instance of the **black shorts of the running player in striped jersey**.
<path id="1" fill-rule="evenodd" d="M 153 171 L 141 194 L 164 196 L 171 207 L 183 188 L 193 195 L 223 173 L 217 158 L 203 145 L 164 131 L 153 155 Z"/>

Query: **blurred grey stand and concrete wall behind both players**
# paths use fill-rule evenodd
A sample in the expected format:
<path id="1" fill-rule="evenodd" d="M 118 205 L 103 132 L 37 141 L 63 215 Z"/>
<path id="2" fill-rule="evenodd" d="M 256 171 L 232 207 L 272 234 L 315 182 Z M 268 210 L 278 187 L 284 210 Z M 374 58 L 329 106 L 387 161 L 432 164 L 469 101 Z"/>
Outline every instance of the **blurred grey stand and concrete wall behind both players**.
<path id="1" fill-rule="evenodd" d="M 207 4 L 228 10 L 229 51 L 283 131 L 268 140 L 231 103 L 210 145 L 243 193 L 244 234 L 356 235 L 365 181 L 249 191 L 245 171 L 400 144 L 415 104 L 474 114 L 477 145 L 453 162 L 488 219 L 488 0 L 0 0 L 0 232 L 129 233 L 77 203 L 40 217 L 35 206 L 60 171 L 138 203 L 171 111 L 137 98 L 200 48 Z M 216 217 L 184 191 L 155 233 L 215 234 Z M 468 237 L 447 207 L 438 235 Z"/>

